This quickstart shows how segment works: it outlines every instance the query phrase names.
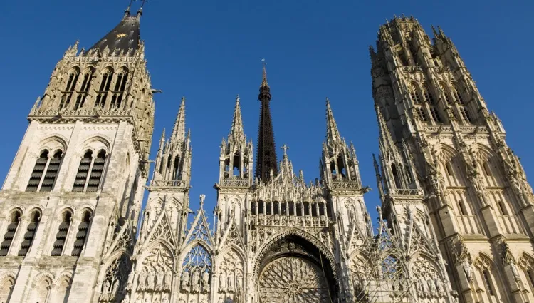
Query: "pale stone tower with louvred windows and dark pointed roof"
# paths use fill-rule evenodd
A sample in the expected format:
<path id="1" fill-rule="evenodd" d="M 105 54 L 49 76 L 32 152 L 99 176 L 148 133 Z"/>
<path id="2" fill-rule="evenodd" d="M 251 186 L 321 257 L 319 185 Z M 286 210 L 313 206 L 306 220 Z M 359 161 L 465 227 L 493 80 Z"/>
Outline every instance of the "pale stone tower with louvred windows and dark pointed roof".
<path id="1" fill-rule="evenodd" d="M 70 46 L 0 191 L 0 302 L 120 302 L 147 182 L 155 104 L 142 9 Z"/>

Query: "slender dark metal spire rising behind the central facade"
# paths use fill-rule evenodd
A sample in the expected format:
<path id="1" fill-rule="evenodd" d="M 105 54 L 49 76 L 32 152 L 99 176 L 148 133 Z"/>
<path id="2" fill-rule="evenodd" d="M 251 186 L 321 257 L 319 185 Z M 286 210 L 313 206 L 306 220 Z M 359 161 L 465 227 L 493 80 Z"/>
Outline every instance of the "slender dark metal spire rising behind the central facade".
<path id="1" fill-rule="evenodd" d="M 271 120 L 271 88 L 267 83 L 265 60 L 263 61 L 263 76 L 261 79 L 260 94 L 261 102 L 260 125 L 258 128 L 258 156 L 256 157 L 256 178 L 266 182 L 278 173 L 276 163 L 276 150 L 274 145 L 273 122 Z"/>

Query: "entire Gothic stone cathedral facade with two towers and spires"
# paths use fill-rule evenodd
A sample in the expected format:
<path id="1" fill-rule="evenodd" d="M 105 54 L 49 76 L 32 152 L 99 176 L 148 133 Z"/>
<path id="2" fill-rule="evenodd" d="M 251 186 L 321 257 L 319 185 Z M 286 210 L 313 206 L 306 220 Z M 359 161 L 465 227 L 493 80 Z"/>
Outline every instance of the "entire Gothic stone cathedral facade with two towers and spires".
<path id="1" fill-rule="evenodd" d="M 70 46 L 31 108 L 0 191 L 1 303 L 534 302 L 533 190 L 441 28 L 394 17 L 370 47 L 378 222 L 328 99 L 320 178 L 277 158 L 265 66 L 257 144 L 237 97 L 208 222 L 184 99 L 149 153 L 141 18 Z"/>

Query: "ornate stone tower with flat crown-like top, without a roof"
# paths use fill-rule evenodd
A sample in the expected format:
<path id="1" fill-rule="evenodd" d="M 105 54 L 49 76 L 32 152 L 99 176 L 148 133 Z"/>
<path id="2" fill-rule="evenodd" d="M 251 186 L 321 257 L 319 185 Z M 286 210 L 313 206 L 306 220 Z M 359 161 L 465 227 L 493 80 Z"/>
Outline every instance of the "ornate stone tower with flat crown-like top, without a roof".
<path id="1" fill-rule="evenodd" d="M 420 197 L 459 302 L 533 302 L 532 188 L 456 46 L 433 32 L 395 17 L 370 48 L 384 217 L 404 226 L 399 205 Z"/>

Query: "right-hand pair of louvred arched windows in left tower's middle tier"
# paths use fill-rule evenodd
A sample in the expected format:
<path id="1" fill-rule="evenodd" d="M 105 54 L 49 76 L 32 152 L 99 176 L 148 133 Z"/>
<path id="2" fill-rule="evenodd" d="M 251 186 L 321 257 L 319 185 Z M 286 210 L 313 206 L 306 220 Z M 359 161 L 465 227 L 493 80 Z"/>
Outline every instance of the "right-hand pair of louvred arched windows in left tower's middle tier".
<path id="1" fill-rule="evenodd" d="M 106 153 L 100 150 L 96 158 L 93 151 L 88 150 L 80 160 L 78 173 L 74 180 L 73 192 L 95 192 L 100 187 L 100 180 L 104 171 Z"/>

